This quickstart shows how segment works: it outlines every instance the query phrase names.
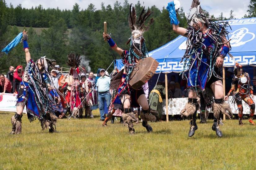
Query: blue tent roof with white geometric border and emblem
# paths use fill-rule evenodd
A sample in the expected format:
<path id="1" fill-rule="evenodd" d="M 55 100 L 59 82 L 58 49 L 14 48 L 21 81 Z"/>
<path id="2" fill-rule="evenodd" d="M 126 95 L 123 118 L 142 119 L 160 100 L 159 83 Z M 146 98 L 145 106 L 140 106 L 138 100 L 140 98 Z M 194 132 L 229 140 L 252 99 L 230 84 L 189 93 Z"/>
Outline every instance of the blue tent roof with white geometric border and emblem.
<path id="1" fill-rule="evenodd" d="M 256 66 L 256 18 L 228 20 L 231 27 L 228 28 L 231 44 L 231 55 L 243 66 Z M 149 56 L 159 62 L 156 73 L 179 73 L 183 69 L 180 63 L 186 49 L 186 37 L 178 36 L 169 43 L 149 52 Z M 224 67 L 233 67 L 235 61 L 228 55 L 224 60 Z M 123 67 L 122 60 L 117 60 L 117 67 Z"/>

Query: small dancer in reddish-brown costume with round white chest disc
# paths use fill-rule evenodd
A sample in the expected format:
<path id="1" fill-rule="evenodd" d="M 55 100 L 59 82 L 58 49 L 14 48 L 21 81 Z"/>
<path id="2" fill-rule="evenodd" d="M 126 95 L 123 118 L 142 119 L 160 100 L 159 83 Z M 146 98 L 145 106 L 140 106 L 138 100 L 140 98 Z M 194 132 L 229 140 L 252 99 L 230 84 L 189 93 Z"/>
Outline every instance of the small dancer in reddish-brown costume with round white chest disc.
<path id="1" fill-rule="evenodd" d="M 238 106 L 238 121 L 239 125 L 243 125 L 243 105 L 242 100 L 245 101 L 250 107 L 250 115 L 249 115 L 249 122 L 253 125 L 253 116 L 255 111 L 255 104 L 254 104 L 254 94 L 253 94 L 253 87 L 250 81 L 249 74 L 244 72 L 243 67 L 241 64 L 236 63 L 234 67 L 234 77 L 232 79 L 231 89 L 228 92 L 227 96 L 225 96 L 225 100 L 228 100 L 228 96 L 233 94 L 236 104 Z"/>

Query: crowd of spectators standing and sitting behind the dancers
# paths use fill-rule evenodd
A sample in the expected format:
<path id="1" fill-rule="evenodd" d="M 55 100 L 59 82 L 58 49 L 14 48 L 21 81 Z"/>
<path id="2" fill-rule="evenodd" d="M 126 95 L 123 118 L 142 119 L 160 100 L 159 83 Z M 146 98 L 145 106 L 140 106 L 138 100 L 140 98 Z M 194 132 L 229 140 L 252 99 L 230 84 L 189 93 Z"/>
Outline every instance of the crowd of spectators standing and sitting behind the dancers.
<path id="1" fill-rule="evenodd" d="M 23 67 L 17 66 L 14 68 L 14 66 L 9 67 L 9 71 L 6 74 L 6 77 L 4 74 L 0 74 L 0 95 L 3 95 L 4 93 L 12 93 L 13 96 L 15 96 L 19 92 L 20 88 L 20 82 L 22 81 L 22 75 L 23 75 Z M 65 91 L 65 89 L 68 88 L 68 86 L 71 86 L 73 78 L 69 78 L 68 74 L 65 76 L 62 75 L 62 73 L 59 71 L 59 69 L 53 69 L 50 72 L 52 81 L 56 89 L 59 89 L 65 96 L 65 99 L 61 97 L 61 104 L 63 105 L 63 110 L 57 113 L 55 111 L 56 116 L 59 118 L 66 118 L 65 113 L 69 113 L 69 117 L 74 118 L 82 118 L 83 113 L 85 113 L 85 117 L 93 117 L 92 110 L 96 110 L 99 108 L 100 110 L 100 120 L 104 121 L 106 118 L 106 111 L 111 110 L 112 105 L 112 91 L 110 90 L 110 80 L 111 76 L 105 69 L 101 69 L 99 71 L 100 77 L 97 79 L 93 79 L 94 73 L 92 71 L 89 72 L 88 77 L 86 74 L 79 74 L 79 77 L 77 78 L 79 88 L 80 89 L 86 89 L 84 92 L 81 92 L 79 90 L 79 98 L 81 108 L 79 110 L 78 114 L 72 115 L 70 112 L 70 106 L 68 106 L 67 103 L 70 101 L 70 90 Z M 233 69 L 229 68 L 226 70 L 226 76 L 225 76 L 225 88 L 226 88 L 226 95 L 228 91 L 231 89 L 231 83 L 233 78 Z M 180 83 L 177 81 L 178 76 L 175 75 L 170 76 L 170 80 L 168 80 L 168 89 L 167 89 L 167 96 L 168 99 L 172 98 L 183 98 L 188 97 L 188 91 L 187 89 L 187 80 L 181 79 Z M 86 82 L 86 83 L 85 83 Z M 253 93 L 256 95 L 256 76 L 252 79 L 253 84 Z M 165 90 L 165 81 L 158 81 L 153 88 L 152 91 L 149 92 L 148 83 L 145 84 L 144 92 L 146 94 L 146 97 L 148 98 L 148 102 L 150 105 L 150 108 L 155 109 L 159 112 L 159 116 L 157 117 L 157 121 L 162 121 L 161 115 L 162 115 L 162 101 L 165 99 L 166 96 L 166 90 Z M 67 86 L 67 88 L 65 88 Z M 83 90 L 82 90 L 83 91 Z M 87 99 L 85 99 L 87 98 Z M 67 102 L 68 101 L 68 102 Z M 61 106 L 62 107 L 62 106 Z M 136 114 L 137 122 L 138 120 L 138 113 L 141 108 L 133 108 L 133 112 Z M 122 113 L 122 109 L 118 109 L 119 113 Z M 115 115 L 115 114 L 114 114 Z M 121 114 L 117 114 L 118 117 L 121 117 Z M 115 116 L 112 117 L 111 123 L 114 123 Z M 163 117 L 162 117 L 163 118 Z M 181 117 L 179 115 L 174 115 L 174 120 L 179 120 Z M 120 120 L 122 122 L 122 119 Z M 104 121 L 104 123 L 106 123 Z"/>

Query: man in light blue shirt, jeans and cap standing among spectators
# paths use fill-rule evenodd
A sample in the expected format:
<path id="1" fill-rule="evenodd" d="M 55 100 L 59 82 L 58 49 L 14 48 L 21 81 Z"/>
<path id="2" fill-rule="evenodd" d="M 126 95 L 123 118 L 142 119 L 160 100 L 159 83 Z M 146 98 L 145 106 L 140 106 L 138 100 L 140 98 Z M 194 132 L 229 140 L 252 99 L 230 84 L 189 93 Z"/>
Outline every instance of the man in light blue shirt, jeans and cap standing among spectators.
<path id="1" fill-rule="evenodd" d="M 99 121 L 104 121 L 104 101 L 106 101 L 107 108 L 110 105 L 111 95 L 109 93 L 110 87 L 110 77 L 107 71 L 104 69 L 100 70 L 101 77 L 97 80 L 96 86 L 98 87 L 98 100 L 101 119 Z"/>

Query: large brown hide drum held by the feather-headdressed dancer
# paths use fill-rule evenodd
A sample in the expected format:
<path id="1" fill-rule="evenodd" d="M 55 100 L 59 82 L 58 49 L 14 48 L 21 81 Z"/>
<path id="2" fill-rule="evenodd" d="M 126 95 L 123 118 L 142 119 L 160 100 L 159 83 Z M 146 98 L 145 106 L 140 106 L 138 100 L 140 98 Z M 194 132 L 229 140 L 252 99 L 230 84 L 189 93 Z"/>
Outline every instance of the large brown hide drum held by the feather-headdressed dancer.
<path id="1" fill-rule="evenodd" d="M 152 57 L 147 57 L 137 62 L 130 75 L 129 84 L 132 88 L 137 90 L 143 86 L 155 74 L 158 65 L 159 62 Z"/>

